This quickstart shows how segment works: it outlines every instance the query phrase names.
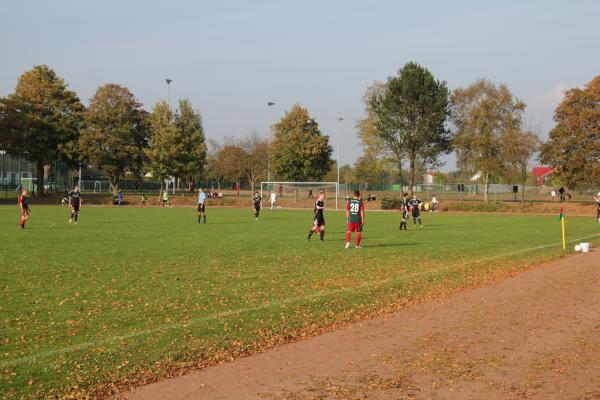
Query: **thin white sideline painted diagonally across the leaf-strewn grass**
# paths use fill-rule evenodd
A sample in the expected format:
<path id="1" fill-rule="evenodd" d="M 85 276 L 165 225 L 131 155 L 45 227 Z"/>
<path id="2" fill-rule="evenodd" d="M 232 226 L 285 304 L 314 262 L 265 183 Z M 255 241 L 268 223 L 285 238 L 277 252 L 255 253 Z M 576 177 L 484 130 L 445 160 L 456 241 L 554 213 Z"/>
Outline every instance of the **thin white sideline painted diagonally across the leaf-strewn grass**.
<path id="1" fill-rule="evenodd" d="M 578 240 L 591 239 L 591 238 L 594 238 L 594 237 L 598 237 L 598 234 L 593 234 L 593 235 L 579 237 L 577 239 L 572 239 L 572 240 L 567 241 L 567 243 L 573 243 L 573 242 L 576 242 Z M 545 249 L 545 248 L 553 247 L 553 246 L 559 246 L 561 244 L 562 244 L 562 242 L 556 242 L 556 243 L 545 244 L 545 245 L 541 245 L 541 246 L 530 247 L 530 248 L 523 249 L 523 250 L 512 251 L 512 252 L 509 252 L 509 253 L 497 254 L 495 256 L 479 258 L 479 259 L 473 260 L 473 261 L 467 260 L 466 264 L 474 264 L 474 263 L 478 263 L 478 262 L 482 262 L 482 261 L 493 260 L 493 259 L 499 258 L 499 257 L 510 257 L 512 255 L 515 255 L 515 254 L 527 253 L 529 251 Z M 465 263 L 463 263 L 463 265 L 464 264 Z M 454 266 L 456 266 L 456 264 Z M 169 330 L 169 329 L 178 329 L 178 328 L 190 327 L 190 326 L 196 325 L 196 324 L 198 324 L 200 322 L 204 322 L 204 321 L 208 321 L 208 320 L 216 319 L 216 318 L 228 317 L 228 316 L 233 315 L 233 314 L 242 314 L 242 313 L 245 313 L 245 312 L 262 310 L 262 309 L 266 309 L 266 308 L 280 306 L 280 305 L 283 305 L 283 304 L 294 303 L 296 301 L 311 300 L 311 299 L 325 297 L 325 296 L 329 296 L 329 295 L 337 294 L 337 293 L 350 292 L 350 291 L 355 291 L 355 290 L 358 291 L 358 290 L 361 290 L 361 289 L 368 289 L 368 288 L 371 288 L 371 287 L 378 287 L 378 286 L 381 287 L 381 286 L 384 286 L 384 285 L 387 285 L 387 284 L 390 284 L 390 283 L 396 283 L 396 282 L 399 282 L 399 281 L 402 281 L 402 280 L 405 280 L 405 279 L 408 279 L 408 278 L 411 278 L 411 277 L 415 277 L 415 276 L 419 276 L 419 275 L 425 275 L 425 274 L 432 273 L 432 272 L 439 272 L 439 271 L 442 271 L 444 269 L 449 270 L 449 269 L 451 269 L 451 267 L 440 268 L 440 269 L 437 269 L 435 271 L 414 272 L 412 274 L 403 275 L 401 277 L 395 277 L 395 278 L 387 279 L 385 281 L 380 281 L 380 282 L 378 282 L 378 284 L 366 283 L 366 284 L 363 284 L 363 285 L 360 285 L 360 286 L 354 286 L 354 287 L 351 287 L 351 288 L 336 289 L 336 290 L 332 290 L 332 291 L 329 291 L 329 292 L 326 292 L 326 293 L 313 293 L 313 294 L 306 295 L 306 296 L 292 297 L 292 298 L 283 299 L 283 300 L 279 300 L 279 301 L 269 302 L 269 303 L 262 304 L 262 305 L 259 305 L 259 306 L 255 306 L 255 307 L 242 308 L 242 309 L 238 309 L 238 310 L 222 311 L 220 313 L 216 313 L 216 314 L 213 314 L 213 315 L 207 315 L 205 317 L 193 318 L 193 319 L 189 320 L 189 322 L 187 322 L 187 323 L 163 324 L 163 325 L 159 325 L 159 326 L 157 326 L 155 328 L 143 329 L 141 331 L 131 332 L 131 333 L 128 333 L 126 335 L 112 336 L 112 337 L 109 337 L 109 338 L 106 338 L 106 339 L 100 339 L 100 340 L 95 340 L 95 341 L 90 341 L 90 342 L 84 342 L 84 343 L 80 343 L 80 344 L 76 344 L 76 345 L 72 345 L 72 346 L 66 346 L 66 347 L 63 347 L 61 349 L 42 351 L 42 352 L 37 353 L 37 354 L 33 354 L 33 355 L 29 355 L 29 356 L 24 356 L 24 357 L 20 357 L 20 358 L 16 358 L 16 359 L 10 360 L 10 361 L 4 361 L 2 363 L 2 368 L 12 367 L 12 366 L 24 364 L 24 363 L 27 363 L 27 362 L 31 362 L 31 361 L 36 361 L 36 360 L 41 359 L 41 358 L 47 358 L 47 357 L 50 357 L 50 356 L 55 356 L 55 355 L 58 355 L 58 354 L 72 353 L 74 351 L 87 349 L 87 348 L 93 347 L 93 346 L 102 346 L 104 344 L 107 344 L 107 343 L 110 343 L 110 342 L 114 342 L 114 341 L 128 340 L 128 339 L 133 339 L 133 338 L 136 338 L 136 337 L 139 337 L 139 336 L 151 335 L 151 334 L 159 332 L 159 331 L 166 331 L 166 330 Z"/>

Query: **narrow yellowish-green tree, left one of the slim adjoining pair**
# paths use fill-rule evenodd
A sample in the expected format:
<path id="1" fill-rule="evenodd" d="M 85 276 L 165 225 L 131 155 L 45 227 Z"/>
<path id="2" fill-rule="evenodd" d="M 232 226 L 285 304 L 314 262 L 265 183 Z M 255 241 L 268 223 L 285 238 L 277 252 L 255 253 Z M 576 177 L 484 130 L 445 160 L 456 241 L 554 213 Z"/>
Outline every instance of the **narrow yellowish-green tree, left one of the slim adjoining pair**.
<path id="1" fill-rule="evenodd" d="M 177 159 L 185 149 L 179 140 L 175 114 L 166 101 L 159 101 L 152 108 L 150 120 L 150 145 L 145 150 L 150 173 L 160 180 L 160 193 L 167 177 L 177 176 Z"/>

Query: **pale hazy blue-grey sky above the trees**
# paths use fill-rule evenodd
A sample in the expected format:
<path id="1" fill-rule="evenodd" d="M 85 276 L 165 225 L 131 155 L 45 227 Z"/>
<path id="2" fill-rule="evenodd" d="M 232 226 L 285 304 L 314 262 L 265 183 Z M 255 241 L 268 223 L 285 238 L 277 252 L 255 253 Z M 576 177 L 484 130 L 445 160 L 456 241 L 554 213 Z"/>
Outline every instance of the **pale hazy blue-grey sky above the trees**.
<path id="1" fill-rule="evenodd" d="M 169 78 L 171 105 L 189 98 L 217 141 L 266 135 L 297 103 L 335 157 L 340 134 L 342 164 L 361 154 L 367 87 L 409 61 L 450 89 L 507 84 L 542 138 L 564 91 L 600 74 L 595 0 L 4 0 L 1 10 L 0 96 L 47 64 L 84 104 L 118 83 L 151 109 Z"/>

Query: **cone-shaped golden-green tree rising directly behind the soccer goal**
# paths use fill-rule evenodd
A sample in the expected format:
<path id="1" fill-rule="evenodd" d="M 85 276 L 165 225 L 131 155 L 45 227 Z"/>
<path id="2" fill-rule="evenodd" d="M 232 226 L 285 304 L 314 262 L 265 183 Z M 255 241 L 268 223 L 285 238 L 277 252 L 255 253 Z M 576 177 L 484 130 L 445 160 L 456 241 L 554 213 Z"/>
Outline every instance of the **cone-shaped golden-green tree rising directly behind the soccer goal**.
<path id="1" fill-rule="evenodd" d="M 321 180 L 331 168 L 332 151 L 308 110 L 294 105 L 274 126 L 271 168 L 279 180 Z"/>

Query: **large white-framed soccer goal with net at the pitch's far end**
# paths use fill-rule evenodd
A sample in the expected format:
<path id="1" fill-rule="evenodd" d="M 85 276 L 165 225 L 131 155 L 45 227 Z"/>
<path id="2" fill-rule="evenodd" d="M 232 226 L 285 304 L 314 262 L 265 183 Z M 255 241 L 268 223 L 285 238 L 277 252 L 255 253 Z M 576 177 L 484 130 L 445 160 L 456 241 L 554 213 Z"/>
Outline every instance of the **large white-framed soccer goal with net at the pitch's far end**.
<path id="1" fill-rule="evenodd" d="M 269 201 L 269 192 L 277 194 L 277 198 L 293 198 L 296 200 L 314 199 L 320 190 L 325 191 L 328 198 L 335 196 L 335 209 L 338 209 L 339 199 L 346 194 L 346 185 L 337 182 L 261 182 L 260 197 Z"/>

